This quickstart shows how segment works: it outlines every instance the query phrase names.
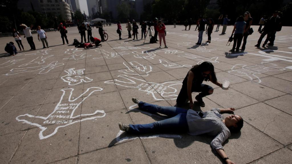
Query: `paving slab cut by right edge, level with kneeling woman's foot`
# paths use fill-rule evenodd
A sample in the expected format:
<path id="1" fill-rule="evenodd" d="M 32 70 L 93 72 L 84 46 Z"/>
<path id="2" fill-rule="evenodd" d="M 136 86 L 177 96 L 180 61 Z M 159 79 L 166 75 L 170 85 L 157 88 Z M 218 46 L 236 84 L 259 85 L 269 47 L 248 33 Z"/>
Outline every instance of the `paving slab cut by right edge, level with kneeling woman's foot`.
<path id="1" fill-rule="evenodd" d="M 292 95 L 284 95 L 267 100 L 264 103 L 292 115 Z"/>

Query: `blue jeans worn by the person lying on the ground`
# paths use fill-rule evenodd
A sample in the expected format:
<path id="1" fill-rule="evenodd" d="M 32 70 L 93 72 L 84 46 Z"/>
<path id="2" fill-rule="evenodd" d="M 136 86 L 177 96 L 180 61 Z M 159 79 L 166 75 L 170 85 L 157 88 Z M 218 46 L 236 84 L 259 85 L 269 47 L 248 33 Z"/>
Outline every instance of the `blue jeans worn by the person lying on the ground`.
<path id="1" fill-rule="evenodd" d="M 187 109 L 178 107 L 161 107 L 154 104 L 139 102 L 139 108 L 149 113 L 161 113 L 169 116 L 165 120 L 157 121 L 148 124 L 130 124 L 129 133 L 144 134 L 155 132 L 187 132 Z"/>

